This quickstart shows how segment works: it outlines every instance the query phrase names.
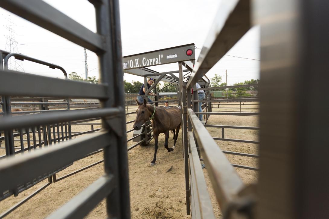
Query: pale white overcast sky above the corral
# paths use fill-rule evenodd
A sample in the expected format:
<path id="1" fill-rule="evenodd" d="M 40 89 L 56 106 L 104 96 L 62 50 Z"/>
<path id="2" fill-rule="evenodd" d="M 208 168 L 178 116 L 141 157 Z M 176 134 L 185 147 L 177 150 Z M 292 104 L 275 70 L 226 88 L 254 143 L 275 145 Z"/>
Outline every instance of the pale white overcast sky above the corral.
<path id="1" fill-rule="evenodd" d="M 96 32 L 95 12 L 86 0 L 45 0 L 48 4 Z M 215 13 L 220 7 L 218 0 L 151 0 L 120 1 L 122 54 L 133 55 L 173 46 L 194 43 L 202 48 Z M 0 8 L 0 49 L 6 49 L 11 34 L 6 26 L 12 22 L 13 37 L 18 42 L 19 53 L 62 66 L 69 74 L 77 72 L 85 77 L 84 49 L 54 33 L 46 31 L 6 10 Z M 9 48 L 9 47 L 8 47 Z M 9 50 L 7 48 L 7 50 Z M 196 60 L 200 54 L 195 49 Z M 98 78 L 97 56 L 87 50 L 89 76 Z M 259 78 L 259 27 L 252 28 L 246 35 L 207 73 L 207 77 L 218 74 L 223 77 L 227 69 L 228 84 Z M 23 62 L 25 72 L 63 77 L 59 70 L 49 69 L 28 61 Z M 159 72 L 178 70 L 178 64 L 150 67 Z M 126 81 L 141 81 L 142 77 L 125 74 Z"/>

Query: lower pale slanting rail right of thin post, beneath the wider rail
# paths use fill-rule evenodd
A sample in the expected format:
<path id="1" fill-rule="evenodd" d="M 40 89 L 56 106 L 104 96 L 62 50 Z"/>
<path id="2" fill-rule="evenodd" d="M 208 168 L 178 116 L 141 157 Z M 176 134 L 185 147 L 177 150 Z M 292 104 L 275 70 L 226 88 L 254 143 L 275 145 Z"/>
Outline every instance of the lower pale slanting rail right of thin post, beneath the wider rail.
<path id="1" fill-rule="evenodd" d="M 214 218 L 215 215 L 213 212 L 213 206 L 210 200 L 209 192 L 207 189 L 207 184 L 203 175 L 203 171 L 201 168 L 200 160 L 198 151 L 196 149 L 196 145 L 194 142 L 194 137 L 191 131 L 189 131 L 189 144 L 190 144 L 190 166 L 191 168 L 191 175 L 195 178 L 196 183 L 196 191 L 193 190 L 194 196 L 196 196 L 199 200 L 199 208 L 201 209 L 201 218 Z M 192 172 L 192 169 L 194 172 Z"/>

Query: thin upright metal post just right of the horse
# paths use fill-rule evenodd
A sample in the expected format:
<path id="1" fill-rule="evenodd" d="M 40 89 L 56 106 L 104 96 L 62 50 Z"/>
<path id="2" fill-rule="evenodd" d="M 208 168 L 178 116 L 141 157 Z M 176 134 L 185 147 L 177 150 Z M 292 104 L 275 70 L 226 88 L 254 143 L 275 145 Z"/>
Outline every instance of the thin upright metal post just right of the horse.
<path id="1" fill-rule="evenodd" d="M 186 212 L 190 215 L 190 181 L 189 181 L 189 152 L 188 152 L 188 135 L 187 135 L 187 93 L 186 85 L 183 83 L 183 65 L 178 62 L 179 69 L 179 85 L 180 99 L 182 100 L 182 134 L 183 134 L 183 149 L 184 149 L 184 166 L 185 166 L 185 189 L 186 189 Z"/>

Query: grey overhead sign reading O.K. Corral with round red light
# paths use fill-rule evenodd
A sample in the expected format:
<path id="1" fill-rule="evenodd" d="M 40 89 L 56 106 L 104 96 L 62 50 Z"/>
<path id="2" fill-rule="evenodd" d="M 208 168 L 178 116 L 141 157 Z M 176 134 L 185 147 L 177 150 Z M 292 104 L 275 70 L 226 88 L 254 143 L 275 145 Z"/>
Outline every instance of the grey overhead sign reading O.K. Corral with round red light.
<path id="1" fill-rule="evenodd" d="M 179 61 L 194 60 L 194 43 L 122 57 L 123 71 Z"/>

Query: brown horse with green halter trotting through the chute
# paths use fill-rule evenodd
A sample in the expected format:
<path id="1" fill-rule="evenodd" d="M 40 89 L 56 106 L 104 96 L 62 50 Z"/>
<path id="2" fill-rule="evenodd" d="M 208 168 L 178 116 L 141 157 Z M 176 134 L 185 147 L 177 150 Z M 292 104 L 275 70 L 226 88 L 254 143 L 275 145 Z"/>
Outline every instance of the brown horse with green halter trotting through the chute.
<path id="1" fill-rule="evenodd" d="M 176 107 L 164 108 L 154 106 L 153 104 L 147 104 L 144 99 L 144 103 L 139 103 L 136 99 L 137 104 L 139 105 L 136 113 L 136 120 L 134 123 L 134 129 L 139 130 L 141 126 L 149 119 L 152 120 L 153 136 L 154 136 L 154 158 L 151 161 L 151 166 L 155 165 L 157 160 L 157 150 L 158 150 L 158 138 L 160 133 L 164 133 L 165 142 L 164 147 L 168 152 L 175 149 L 175 144 L 178 137 L 178 132 L 181 127 L 181 112 L 180 109 Z M 176 133 L 175 133 L 176 129 Z M 174 132 L 174 145 L 168 147 L 169 131 L 173 130 Z"/>

